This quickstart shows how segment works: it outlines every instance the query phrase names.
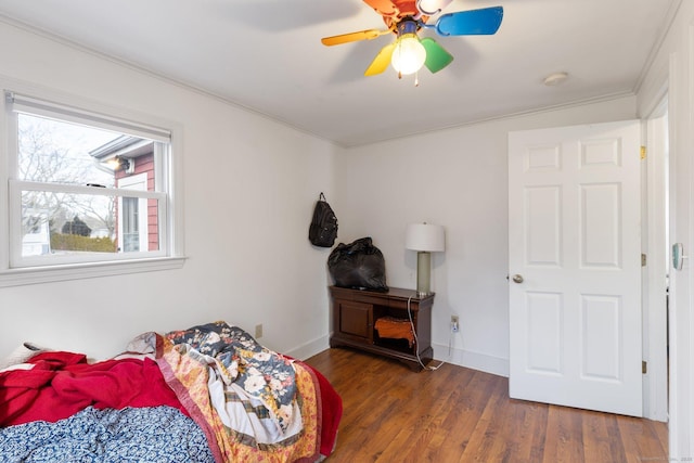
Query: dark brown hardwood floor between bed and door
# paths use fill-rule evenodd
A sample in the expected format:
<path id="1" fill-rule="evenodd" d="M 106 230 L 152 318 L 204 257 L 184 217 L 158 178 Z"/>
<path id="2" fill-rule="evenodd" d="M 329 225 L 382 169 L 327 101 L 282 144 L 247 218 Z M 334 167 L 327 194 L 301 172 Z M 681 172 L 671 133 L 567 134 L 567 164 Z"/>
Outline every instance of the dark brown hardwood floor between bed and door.
<path id="1" fill-rule="evenodd" d="M 414 373 L 346 348 L 307 363 L 343 398 L 330 463 L 668 461 L 666 423 L 510 399 L 502 376 L 451 364 Z"/>

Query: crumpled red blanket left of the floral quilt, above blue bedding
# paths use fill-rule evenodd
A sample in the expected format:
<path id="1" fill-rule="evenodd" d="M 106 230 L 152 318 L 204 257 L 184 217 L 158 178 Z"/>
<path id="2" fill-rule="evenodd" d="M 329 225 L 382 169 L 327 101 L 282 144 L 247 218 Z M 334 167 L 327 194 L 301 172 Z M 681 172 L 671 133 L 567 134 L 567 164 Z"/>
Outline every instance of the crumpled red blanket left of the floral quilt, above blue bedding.
<path id="1" fill-rule="evenodd" d="M 28 363 L 35 366 L 0 373 L 0 426 L 56 422 L 89 406 L 170 406 L 188 414 L 150 359 L 89 364 L 81 353 L 43 352 Z"/>

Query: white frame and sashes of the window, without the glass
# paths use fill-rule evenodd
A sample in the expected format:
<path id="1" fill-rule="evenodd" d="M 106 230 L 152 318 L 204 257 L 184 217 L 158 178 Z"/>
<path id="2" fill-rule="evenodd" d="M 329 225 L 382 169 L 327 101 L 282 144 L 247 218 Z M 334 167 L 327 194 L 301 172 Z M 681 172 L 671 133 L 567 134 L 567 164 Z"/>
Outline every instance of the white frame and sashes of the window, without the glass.
<path id="1" fill-rule="evenodd" d="M 117 108 L 54 90 L 0 78 L 0 287 L 62 280 L 107 276 L 133 272 L 178 269 L 185 260 L 183 253 L 182 159 L 181 127 L 151 115 Z M 5 98 L 15 97 L 14 103 Z M 17 103 L 18 102 L 18 103 Z M 31 114 L 54 115 L 67 121 L 85 120 L 94 127 L 117 128 L 120 132 L 160 140 L 163 134 L 169 150 L 156 163 L 156 191 L 128 191 L 127 196 L 155 198 L 159 203 L 159 250 L 147 253 L 114 253 L 106 260 L 89 257 L 63 262 L 60 258 L 34 259 L 23 257 L 21 231 L 21 192 L 27 189 L 47 190 L 51 183 L 27 182 L 17 179 L 16 114 L 13 107 L 25 104 Z M 4 139 L 4 140 L 3 140 Z M 164 141 L 164 140 L 162 140 Z M 158 145 L 158 143 L 155 143 Z M 98 195 L 124 195 L 118 189 L 95 189 L 83 185 L 60 185 L 61 192 Z M 4 200 L 2 197 L 4 196 Z M 18 254 L 17 254 L 18 253 Z M 70 259 L 76 260 L 76 259 Z M 21 262 L 17 265 L 17 262 Z"/>

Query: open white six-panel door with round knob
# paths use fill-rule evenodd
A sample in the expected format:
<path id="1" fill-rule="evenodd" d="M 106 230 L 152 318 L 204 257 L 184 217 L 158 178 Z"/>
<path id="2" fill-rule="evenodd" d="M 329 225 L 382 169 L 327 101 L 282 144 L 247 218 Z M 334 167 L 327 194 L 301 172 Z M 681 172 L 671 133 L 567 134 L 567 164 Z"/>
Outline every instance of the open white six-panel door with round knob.
<path id="1" fill-rule="evenodd" d="M 510 396 L 642 415 L 640 125 L 509 134 Z"/>

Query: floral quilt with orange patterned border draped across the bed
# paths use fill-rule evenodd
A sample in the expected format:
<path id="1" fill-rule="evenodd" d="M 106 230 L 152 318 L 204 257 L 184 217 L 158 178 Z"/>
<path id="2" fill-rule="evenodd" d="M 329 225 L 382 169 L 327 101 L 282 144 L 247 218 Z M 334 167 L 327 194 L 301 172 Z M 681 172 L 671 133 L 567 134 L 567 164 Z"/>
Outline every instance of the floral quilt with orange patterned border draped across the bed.
<path id="1" fill-rule="evenodd" d="M 156 346 L 164 377 L 207 436 L 216 462 L 319 458 L 321 389 L 309 368 L 224 322 L 144 333 L 130 346 L 142 342 Z"/>

